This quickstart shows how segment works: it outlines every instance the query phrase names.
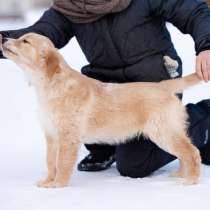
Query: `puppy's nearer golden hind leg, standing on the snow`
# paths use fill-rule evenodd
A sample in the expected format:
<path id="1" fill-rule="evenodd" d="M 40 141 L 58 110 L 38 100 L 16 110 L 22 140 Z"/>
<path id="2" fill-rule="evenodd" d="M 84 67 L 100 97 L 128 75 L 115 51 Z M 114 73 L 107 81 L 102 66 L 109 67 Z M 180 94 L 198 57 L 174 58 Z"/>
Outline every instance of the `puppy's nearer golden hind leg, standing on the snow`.
<path id="1" fill-rule="evenodd" d="M 198 149 L 191 143 L 190 139 L 183 132 L 175 134 L 173 130 L 168 130 L 153 135 L 148 135 L 154 143 L 165 151 L 176 156 L 180 161 L 180 168 L 173 175 L 183 177 L 185 184 L 196 184 L 199 181 L 201 158 Z"/>

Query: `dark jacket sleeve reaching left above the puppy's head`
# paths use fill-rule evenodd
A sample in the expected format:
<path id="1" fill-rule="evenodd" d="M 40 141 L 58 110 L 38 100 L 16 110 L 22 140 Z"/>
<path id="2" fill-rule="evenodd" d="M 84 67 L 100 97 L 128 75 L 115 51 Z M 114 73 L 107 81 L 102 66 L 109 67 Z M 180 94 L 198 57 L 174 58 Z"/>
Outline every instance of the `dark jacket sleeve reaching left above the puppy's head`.
<path id="1" fill-rule="evenodd" d="M 3 37 L 19 38 L 26 33 L 34 32 L 48 37 L 55 47 L 60 49 L 74 36 L 71 28 L 71 22 L 67 18 L 50 8 L 32 26 L 18 30 L 1 31 L 0 34 Z"/>

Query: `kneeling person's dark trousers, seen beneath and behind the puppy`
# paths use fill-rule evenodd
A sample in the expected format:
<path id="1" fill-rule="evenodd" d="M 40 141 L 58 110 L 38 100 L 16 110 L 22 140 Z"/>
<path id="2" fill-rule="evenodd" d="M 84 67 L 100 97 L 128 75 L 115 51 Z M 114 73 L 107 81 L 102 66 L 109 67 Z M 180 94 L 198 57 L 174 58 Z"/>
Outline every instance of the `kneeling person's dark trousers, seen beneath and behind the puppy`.
<path id="1" fill-rule="evenodd" d="M 193 144 L 201 148 L 210 133 L 210 116 L 196 104 L 186 106 L 189 115 L 189 136 Z M 145 177 L 176 159 L 143 136 L 118 146 L 86 145 L 91 153 L 116 156 L 117 169 L 123 176 Z"/>

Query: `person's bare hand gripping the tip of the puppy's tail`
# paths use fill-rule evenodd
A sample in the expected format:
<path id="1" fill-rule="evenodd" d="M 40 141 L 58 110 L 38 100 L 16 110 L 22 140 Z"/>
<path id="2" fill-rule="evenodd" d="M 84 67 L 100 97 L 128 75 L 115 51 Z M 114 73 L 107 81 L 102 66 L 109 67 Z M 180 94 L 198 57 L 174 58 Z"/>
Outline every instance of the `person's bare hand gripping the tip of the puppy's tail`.
<path id="1" fill-rule="evenodd" d="M 210 81 L 210 50 L 202 51 L 196 57 L 196 72 L 200 79 Z"/>

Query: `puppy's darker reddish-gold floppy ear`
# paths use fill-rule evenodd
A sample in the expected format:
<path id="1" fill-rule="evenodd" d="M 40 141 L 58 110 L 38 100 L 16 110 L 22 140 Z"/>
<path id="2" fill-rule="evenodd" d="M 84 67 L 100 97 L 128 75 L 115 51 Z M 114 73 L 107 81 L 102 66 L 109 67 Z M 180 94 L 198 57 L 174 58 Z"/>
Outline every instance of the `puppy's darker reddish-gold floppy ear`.
<path id="1" fill-rule="evenodd" d="M 49 50 L 43 56 L 46 76 L 50 79 L 55 73 L 59 72 L 59 56 L 56 51 Z"/>

